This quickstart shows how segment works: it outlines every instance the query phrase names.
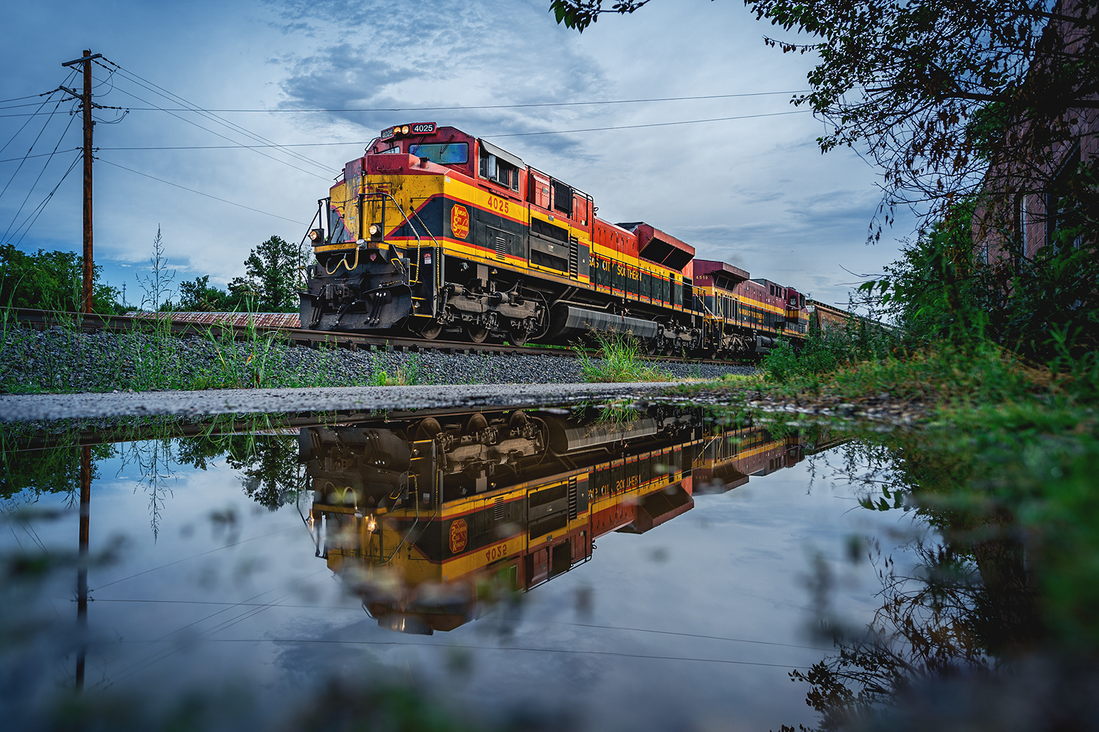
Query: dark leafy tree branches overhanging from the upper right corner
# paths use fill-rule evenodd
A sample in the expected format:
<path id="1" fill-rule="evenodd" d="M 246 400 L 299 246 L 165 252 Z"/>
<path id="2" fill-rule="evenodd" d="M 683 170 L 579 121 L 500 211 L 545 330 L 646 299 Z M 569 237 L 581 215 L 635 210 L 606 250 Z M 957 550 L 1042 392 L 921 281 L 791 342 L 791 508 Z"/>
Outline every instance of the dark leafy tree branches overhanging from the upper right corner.
<path id="1" fill-rule="evenodd" d="M 582 31 L 602 13 L 646 3 L 602 4 L 551 0 L 550 10 Z M 765 43 L 819 59 L 808 75 L 812 91 L 791 101 L 828 121 L 822 151 L 857 146 L 884 170 L 882 223 L 901 204 L 941 217 L 981 190 L 1043 190 L 1056 155 L 1089 134 L 1078 122 L 1099 85 L 1096 0 L 745 5 L 799 36 Z"/>

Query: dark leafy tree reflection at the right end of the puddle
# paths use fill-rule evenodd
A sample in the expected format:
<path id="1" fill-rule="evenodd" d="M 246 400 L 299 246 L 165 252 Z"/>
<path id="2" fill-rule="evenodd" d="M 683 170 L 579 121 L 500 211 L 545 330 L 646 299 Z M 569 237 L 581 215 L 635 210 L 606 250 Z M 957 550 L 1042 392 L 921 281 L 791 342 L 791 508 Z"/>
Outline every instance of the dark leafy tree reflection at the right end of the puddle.
<path id="1" fill-rule="evenodd" d="M 862 630 L 832 613 L 836 580 L 817 557 L 811 589 L 820 629 L 839 653 L 790 677 L 810 685 L 806 702 L 820 712 L 820 730 L 877 729 L 896 721 L 892 714 L 901 709 L 911 714 L 921 689 L 961 679 L 996 683 L 1004 664 L 1040 639 L 1034 583 L 1010 517 L 979 502 L 947 500 L 956 498 L 972 467 L 950 455 L 935 457 L 852 443 L 832 465 L 833 479 L 864 489 L 865 509 L 918 503 L 914 514 L 926 534 L 902 546 L 911 552 L 906 559 L 915 559 L 907 570 L 884 556 L 876 541 L 867 546 L 852 540 L 850 558 L 869 556 L 881 584 L 881 605 Z M 930 716 L 950 712 L 930 710 Z"/>

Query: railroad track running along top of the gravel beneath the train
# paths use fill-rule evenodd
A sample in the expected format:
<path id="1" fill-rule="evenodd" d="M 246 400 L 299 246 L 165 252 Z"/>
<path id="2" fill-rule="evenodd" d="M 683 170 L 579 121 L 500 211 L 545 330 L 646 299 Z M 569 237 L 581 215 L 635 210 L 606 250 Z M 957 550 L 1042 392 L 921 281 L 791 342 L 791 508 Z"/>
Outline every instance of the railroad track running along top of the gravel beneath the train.
<path id="1" fill-rule="evenodd" d="M 11 308 L 15 320 L 25 325 L 45 330 L 54 325 L 78 329 L 84 332 L 112 331 L 126 332 L 135 326 L 151 325 L 154 321 L 152 314 L 143 315 L 103 315 L 99 313 L 84 314 L 78 312 L 56 312 L 49 310 L 32 310 L 27 308 Z M 352 351 L 368 350 L 398 353 L 443 353 L 443 354 L 484 354 L 495 356 L 557 356 L 560 358 L 576 358 L 575 348 L 547 347 L 547 346 L 515 346 L 501 343 L 470 343 L 468 341 L 424 341 L 409 335 L 366 335 L 363 333 L 346 333 L 334 331 L 308 331 L 302 328 L 291 328 L 285 324 L 277 324 L 280 320 L 286 321 L 289 315 L 279 313 L 256 313 L 255 319 L 249 323 L 247 313 L 234 315 L 237 322 L 226 322 L 217 318 L 213 313 L 179 313 L 186 315 L 187 320 L 173 319 L 167 323 L 175 335 L 206 335 L 211 329 L 230 329 L 234 332 L 234 337 L 245 340 L 252 334 L 260 337 L 274 335 L 286 340 L 297 346 L 322 347 L 334 346 L 349 348 Z M 218 313 L 223 314 L 223 313 Z M 168 313 L 157 313 L 166 317 Z M 203 315 L 210 315 L 203 318 Z M 192 319 L 197 317 L 197 319 Z M 266 324 L 266 323 L 275 324 Z M 597 352 L 590 350 L 590 355 Z M 747 361 L 724 361 L 709 358 L 689 358 L 684 356 L 646 356 L 646 361 L 687 363 L 687 364 L 715 364 L 730 366 L 751 366 L 754 362 Z"/>

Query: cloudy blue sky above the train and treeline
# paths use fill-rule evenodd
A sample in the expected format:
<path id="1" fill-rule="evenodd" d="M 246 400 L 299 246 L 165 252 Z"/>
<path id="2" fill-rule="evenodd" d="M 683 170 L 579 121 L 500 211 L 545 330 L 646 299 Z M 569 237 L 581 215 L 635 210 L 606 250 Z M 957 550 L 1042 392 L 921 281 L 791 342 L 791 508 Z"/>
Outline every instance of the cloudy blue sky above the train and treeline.
<path id="1" fill-rule="evenodd" d="M 828 302 L 846 301 L 854 278 L 844 268 L 879 271 L 912 228 L 901 217 L 866 245 L 876 171 L 853 151 L 821 155 L 823 126 L 811 114 L 782 114 L 796 111 L 788 92 L 807 88 L 813 59 L 766 47 L 763 35 L 775 30 L 739 2 L 657 0 L 582 35 L 554 22 L 548 0 L 47 1 L 5 3 L 0 20 L 34 41 L 0 48 L 8 69 L 0 99 L 56 88 L 67 74 L 60 64 L 84 48 L 122 69 L 93 73 L 99 103 L 132 110 L 96 127 L 96 258 L 112 285 L 126 284 L 130 302 L 141 300 L 135 278 L 148 269 L 158 226 L 177 281 L 210 275 L 224 284 L 271 234 L 300 240 L 343 164 L 397 122 L 435 121 L 487 137 L 590 192 L 606 219 L 648 221 L 700 257 Z M 756 96 L 500 108 L 718 95 Z M 53 99 L 42 111 L 55 109 Z M 204 110 L 496 108 L 217 117 L 136 109 L 178 110 L 179 99 Z M 79 119 L 63 135 L 71 103 L 53 117 L 20 117 L 41 102 L 0 104 L 0 144 L 9 143 L 0 153 L 0 188 L 8 186 L 0 226 L 11 223 L 0 241 L 78 251 L 79 167 L 24 224 L 80 145 Z M 769 117 L 544 134 L 751 115 Z M 57 155 L 21 164 L 36 135 L 32 154 L 56 145 Z M 256 137 L 308 146 L 235 147 Z M 122 149 L 135 147 L 189 149 Z"/>

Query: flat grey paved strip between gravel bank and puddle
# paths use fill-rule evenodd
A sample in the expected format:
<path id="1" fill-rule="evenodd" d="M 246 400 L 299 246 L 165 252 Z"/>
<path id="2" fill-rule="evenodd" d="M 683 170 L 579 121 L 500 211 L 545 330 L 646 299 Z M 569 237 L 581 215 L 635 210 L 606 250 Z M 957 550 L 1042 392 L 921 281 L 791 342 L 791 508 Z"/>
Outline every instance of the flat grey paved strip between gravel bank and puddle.
<path id="1" fill-rule="evenodd" d="M 0 396 L 0 422 L 112 417 L 376 412 L 453 407 L 552 407 L 641 396 L 678 381 L 218 389 Z"/>

